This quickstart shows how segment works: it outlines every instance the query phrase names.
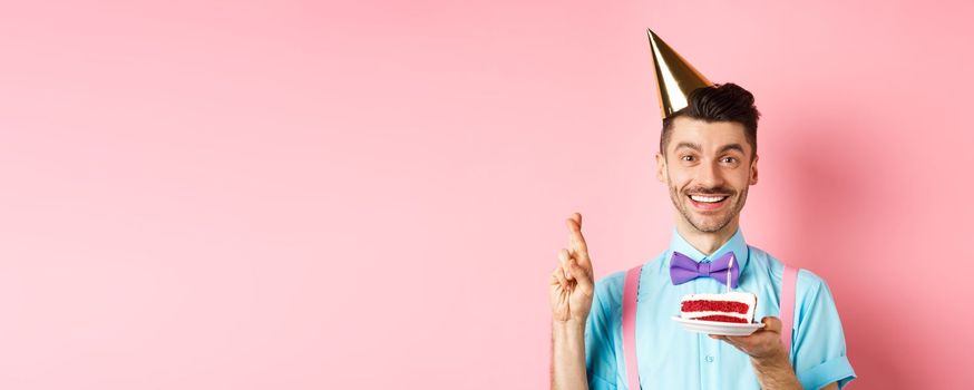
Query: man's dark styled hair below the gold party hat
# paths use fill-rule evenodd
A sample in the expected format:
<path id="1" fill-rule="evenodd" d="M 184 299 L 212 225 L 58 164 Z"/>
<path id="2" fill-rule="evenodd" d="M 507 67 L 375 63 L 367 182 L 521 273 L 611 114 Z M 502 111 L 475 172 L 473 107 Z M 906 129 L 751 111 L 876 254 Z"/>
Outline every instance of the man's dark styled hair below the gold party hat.
<path id="1" fill-rule="evenodd" d="M 751 157 L 758 154 L 758 107 L 754 107 L 754 95 L 737 84 L 718 84 L 697 88 L 688 96 L 688 105 L 663 119 L 663 130 L 660 133 L 660 153 L 666 154 L 670 143 L 670 131 L 673 119 L 689 117 L 708 123 L 736 121 L 744 126 L 744 137 L 751 144 Z"/>

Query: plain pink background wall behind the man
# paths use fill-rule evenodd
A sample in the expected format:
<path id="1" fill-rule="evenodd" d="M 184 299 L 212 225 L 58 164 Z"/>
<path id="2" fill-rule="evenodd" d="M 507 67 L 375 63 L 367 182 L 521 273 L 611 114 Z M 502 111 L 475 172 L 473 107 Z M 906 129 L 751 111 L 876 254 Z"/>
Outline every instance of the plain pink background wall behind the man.
<path id="1" fill-rule="evenodd" d="M 970 2 L 22 1 L 0 12 L 0 388 L 542 389 L 572 212 L 664 250 L 644 29 L 752 90 L 748 241 L 853 388 L 971 388 Z"/>

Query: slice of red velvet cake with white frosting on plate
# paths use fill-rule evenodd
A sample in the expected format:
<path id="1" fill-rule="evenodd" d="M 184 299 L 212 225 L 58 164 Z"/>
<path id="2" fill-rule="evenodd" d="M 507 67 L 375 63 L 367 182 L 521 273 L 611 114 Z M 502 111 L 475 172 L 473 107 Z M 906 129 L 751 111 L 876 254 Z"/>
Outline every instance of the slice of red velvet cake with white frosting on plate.
<path id="1" fill-rule="evenodd" d="M 751 323 L 758 296 L 749 292 L 689 294 L 680 302 L 680 318 L 701 321 Z"/>

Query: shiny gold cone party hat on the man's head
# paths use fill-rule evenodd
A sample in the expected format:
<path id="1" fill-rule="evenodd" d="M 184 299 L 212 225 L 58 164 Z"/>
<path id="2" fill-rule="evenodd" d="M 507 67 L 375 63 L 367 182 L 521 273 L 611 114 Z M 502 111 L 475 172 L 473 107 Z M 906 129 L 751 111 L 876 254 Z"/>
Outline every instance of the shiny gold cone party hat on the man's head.
<path id="1" fill-rule="evenodd" d="M 656 87 L 660 88 L 660 108 L 663 118 L 688 105 L 690 92 L 713 82 L 686 62 L 670 45 L 666 45 L 653 30 L 650 36 L 650 50 L 653 55 L 653 69 L 656 70 Z"/>

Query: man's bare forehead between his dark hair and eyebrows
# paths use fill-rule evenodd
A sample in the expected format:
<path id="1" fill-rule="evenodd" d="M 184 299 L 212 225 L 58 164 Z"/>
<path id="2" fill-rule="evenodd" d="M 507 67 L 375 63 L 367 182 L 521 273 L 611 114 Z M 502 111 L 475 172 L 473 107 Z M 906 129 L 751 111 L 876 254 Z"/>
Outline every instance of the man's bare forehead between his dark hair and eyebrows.
<path id="1" fill-rule="evenodd" d="M 744 125 L 737 121 L 704 121 L 688 117 L 673 119 L 670 142 L 666 148 L 673 150 L 681 143 L 700 145 L 703 152 L 717 150 L 723 146 L 738 144 L 746 153 L 751 152 L 744 135 Z"/>

